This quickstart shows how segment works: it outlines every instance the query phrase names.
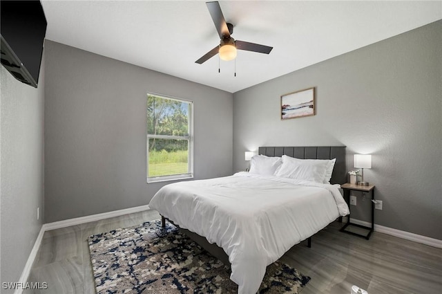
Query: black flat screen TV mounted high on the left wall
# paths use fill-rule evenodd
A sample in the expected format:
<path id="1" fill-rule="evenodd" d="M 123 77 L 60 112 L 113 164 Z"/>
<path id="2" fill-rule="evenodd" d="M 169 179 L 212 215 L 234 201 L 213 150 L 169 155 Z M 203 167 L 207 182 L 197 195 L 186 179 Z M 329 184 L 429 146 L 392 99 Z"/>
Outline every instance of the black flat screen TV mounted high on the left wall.
<path id="1" fill-rule="evenodd" d="M 37 88 L 46 34 L 39 0 L 0 1 L 1 64 L 19 81 Z"/>

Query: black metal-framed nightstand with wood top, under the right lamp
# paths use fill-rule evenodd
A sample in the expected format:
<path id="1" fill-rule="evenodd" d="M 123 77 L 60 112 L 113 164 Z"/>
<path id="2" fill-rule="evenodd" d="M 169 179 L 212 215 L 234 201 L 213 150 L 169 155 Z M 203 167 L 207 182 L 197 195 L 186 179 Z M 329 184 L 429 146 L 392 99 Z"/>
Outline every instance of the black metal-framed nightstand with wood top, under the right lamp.
<path id="1" fill-rule="evenodd" d="M 350 202 L 350 191 L 359 191 L 359 192 L 363 192 L 363 193 L 371 192 L 372 193 L 372 226 L 367 227 L 367 226 L 358 225 L 356 223 L 350 223 L 350 214 L 349 214 L 349 215 L 347 215 L 347 223 L 345 223 L 345 225 L 340 229 L 341 232 L 347 232 L 352 235 L 364 237 L 367 240 L 370 239 L 370 235 L 372 235 L 372 232 L 374 231 L 374 185 L 361 186 L 361 185 L 356 185 L 356 184 L 345 183 L 343 185 L 340 185 L 340 187 L 344 191 L 344 199 L 345 199 L 345 201 L 347 201 L 349 208 L 351 206 L 349 203 Z M 353 231 L 349 230 L 349 229 L 351 229 L 351 226 L 363 228 L 365 230 L 368 230 L 368 232 L 366 234 L 359 233 L 359 232 L 353 232 Z"/>

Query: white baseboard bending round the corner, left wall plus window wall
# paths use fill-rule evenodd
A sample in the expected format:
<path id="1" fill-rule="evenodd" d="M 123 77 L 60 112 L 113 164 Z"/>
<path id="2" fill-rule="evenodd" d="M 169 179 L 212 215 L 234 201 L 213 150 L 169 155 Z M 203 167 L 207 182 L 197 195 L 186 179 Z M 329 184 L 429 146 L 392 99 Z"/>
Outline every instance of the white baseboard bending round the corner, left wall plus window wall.
<path id="1" fill-rule="evenodd" d="M 21 273 L 19 283 L 21 285 L 25 285 L 26 282 L 28 282 L 30 270 L 32 268 L 32 265 L 34 264 L 35 257 L 37 257 L 37 252 L 40 248 L 41 241 L 43 240 L 44 232 L 48 230 L 55 230 L 59 228 L 66 228 L 69 226 L 76 226 L 81 223 L 89 223 L 90 221 L 99 221 L 102 219 L 109 219 L 111 217 L 119 217 L 124 214 L 130 214 L 134 212 L 141 212 L 144 210 L 149 210 L 149 205 L 142 205 L 137 206 L 135 208 L 126 208 L 124 210 L 114 210 L 111 212 L 104 212 L 100 214 L 93 214 L 88 215 L 86 217 L 76 217 L 75 219 L 66 219 L 64 221 L 55 221 L 53 223 L 44 223 L 43 226 L 41 226 L 39 235 L 37 236 L 37 239 L 35 240 L 34 247 L 32 247 L 32 250 L 30 251 L 30 255 L 28 257 L 28 261 L 26 261 L 26 265 L 23 268 L 23 272 Z M 14 291 L 14 294 L 22 294 L 23 288 L 16 288 Z"/>

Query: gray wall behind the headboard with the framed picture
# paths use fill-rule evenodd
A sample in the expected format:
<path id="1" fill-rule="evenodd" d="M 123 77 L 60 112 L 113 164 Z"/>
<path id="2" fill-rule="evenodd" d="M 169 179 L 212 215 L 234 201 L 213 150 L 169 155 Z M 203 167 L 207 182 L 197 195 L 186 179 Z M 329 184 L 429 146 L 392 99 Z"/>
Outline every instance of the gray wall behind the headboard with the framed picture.
<path id="1" fill-rule="evenodd" d="M 234 93 L 234 169 L 266 145 L 345 145 L 348 170 L 372 154 L 375 222 L 442 239 L 441 32 L 438 21 Z M 280 95 L 311 86 L 316 116 L 280 120 Z M 361 199 L 352 212 L 367 221 Z"/>

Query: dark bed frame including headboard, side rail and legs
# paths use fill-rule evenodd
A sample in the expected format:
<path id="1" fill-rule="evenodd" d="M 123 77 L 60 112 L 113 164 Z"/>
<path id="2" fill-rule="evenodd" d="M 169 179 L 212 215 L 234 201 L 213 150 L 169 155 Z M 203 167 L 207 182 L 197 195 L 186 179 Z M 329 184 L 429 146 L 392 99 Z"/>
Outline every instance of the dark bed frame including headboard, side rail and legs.
<path id="1" fill-rule="evenodd" d="M 258 154 L 269 157 L 287 155 L 300 159 L 333 159 L 336 158 L 332 178 L 330 183 L 343 184 L 347 182 L 347 171 L 345 166 L 345 146 L 328 146 L 328 147 L 259 147 Z M 342 222 L 342 217 L 339 218 Z M 162 227 L 166 226 L 166 218 L 161 216 Z M 167 219 L 170 223 L 176 226 L 173 221 Z M 218 257 L 225 265 L 230 266 L 229 256 L 224 252 L 224 249 L 216 244 L 210 244 L 205 237 L 202 237 L 194 232 L 180 228 L 181 232 L 189 236 L 193 241 L 198 243 L 202 248 L 211 253 L 211 255 Z M 311 236 L 307 238 L 307 246 L 311 248 Z"/>

